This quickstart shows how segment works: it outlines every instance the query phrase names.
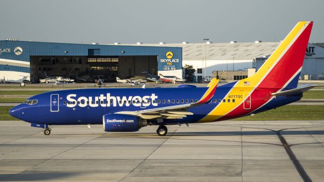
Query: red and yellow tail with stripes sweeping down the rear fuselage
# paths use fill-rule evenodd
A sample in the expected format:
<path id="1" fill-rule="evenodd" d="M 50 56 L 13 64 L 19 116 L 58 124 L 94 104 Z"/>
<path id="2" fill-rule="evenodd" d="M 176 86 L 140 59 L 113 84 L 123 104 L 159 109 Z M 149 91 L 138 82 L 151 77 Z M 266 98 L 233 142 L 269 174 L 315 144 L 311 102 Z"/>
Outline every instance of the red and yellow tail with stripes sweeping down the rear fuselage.
<path id="1" fill-rule="evenodd" d="M 298 79 L 294 78 L 301 71 L 312 26 L 313 22 L 298 22 L 256 74 L 237 81 L 224 97 L 229 99 L 229 96 L 239 95 L 243 99 L 219 103 L 199 122 L 244 116 L 271 101 L 271 93 L 278 92 L 288 84 L 290 88 L 296 88 Z M 249 108 L 244 107 L 245 102 L 249 102 Z"/>

